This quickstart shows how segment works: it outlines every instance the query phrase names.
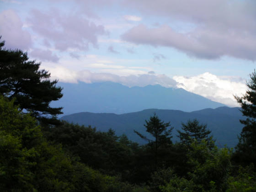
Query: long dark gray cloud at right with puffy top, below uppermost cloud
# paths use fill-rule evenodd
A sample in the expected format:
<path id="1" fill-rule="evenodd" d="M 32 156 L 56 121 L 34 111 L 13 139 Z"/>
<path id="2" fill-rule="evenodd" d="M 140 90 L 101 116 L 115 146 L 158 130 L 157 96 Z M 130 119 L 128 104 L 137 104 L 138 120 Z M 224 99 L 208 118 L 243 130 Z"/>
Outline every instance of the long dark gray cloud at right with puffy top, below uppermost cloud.
<path id="1" fill-rule="evenodd" d="M 133 27 L 122 36 L 123 40 L 136 44 L 173 47 L 190 56 L 203 59 L 218 59 L 229 55 L 241 59 L 256 60 L 256 36 L 222 30 L 198 28 L 193 32 L 180 33 L 169 26 L 148 28 Z"/>

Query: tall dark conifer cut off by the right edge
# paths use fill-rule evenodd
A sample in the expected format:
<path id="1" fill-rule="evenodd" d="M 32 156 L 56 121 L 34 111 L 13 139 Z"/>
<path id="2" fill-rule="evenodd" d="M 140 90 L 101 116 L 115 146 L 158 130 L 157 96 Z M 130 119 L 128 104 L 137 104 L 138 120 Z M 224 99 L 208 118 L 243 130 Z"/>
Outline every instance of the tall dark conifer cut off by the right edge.
<path id="1" fill-rule="evenodd" d="M 244 165 L 254 163 L 256 165 L 256 72 L 250 75 L 251 79 L 246 82 L 249 88 L 242 97 L 235 96 L 241 105 L 241 112 L 246 116 L 240 120 L 244 128 L 240 133 L 239 143 L 236 146 L 234 160 Z"/>

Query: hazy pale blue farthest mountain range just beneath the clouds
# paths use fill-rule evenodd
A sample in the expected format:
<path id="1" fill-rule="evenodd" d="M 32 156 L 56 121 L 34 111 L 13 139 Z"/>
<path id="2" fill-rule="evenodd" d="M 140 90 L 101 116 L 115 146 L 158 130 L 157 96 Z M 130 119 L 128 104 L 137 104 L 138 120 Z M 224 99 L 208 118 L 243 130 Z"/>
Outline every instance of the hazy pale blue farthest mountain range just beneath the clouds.
<path id="1" fill-rule="evenodd" d="M 184 89 L 160 85 L 128 87 L 113 82 L 86 84 L 58 83 L 64 96 L 52 102 L 52 107 L 64 107 L 64 115 L 75 112 L 108 112 L 123 114 L 148 108 L 192 112 L 204 108 L 225 106 Z"/>

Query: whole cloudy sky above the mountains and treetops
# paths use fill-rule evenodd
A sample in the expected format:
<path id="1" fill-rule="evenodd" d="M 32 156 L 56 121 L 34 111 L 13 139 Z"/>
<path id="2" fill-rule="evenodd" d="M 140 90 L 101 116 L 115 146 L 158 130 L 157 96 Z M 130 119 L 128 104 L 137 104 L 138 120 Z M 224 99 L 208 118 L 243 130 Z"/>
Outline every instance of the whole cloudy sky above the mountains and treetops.
<path id="1" fill-rule="evenodd" d="M 0 0 L 0 35 L 61 82 L 160 84 L 236 107 L 256 68 L 256 1 Z"/>

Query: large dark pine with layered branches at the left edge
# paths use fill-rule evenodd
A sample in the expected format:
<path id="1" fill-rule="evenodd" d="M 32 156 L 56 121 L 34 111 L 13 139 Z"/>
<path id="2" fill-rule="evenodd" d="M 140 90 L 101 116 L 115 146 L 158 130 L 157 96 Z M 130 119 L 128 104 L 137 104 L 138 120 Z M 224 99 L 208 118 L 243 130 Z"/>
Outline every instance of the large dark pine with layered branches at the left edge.
<path id="1" fill-rule="evenodd" d="M 42 69 L 40 63 L 30 61 L 27 53 L 21 50 L 5 49 L 4 41 L 0 44 L 0 93 L 19 105 L 21 111 L 31 112 L 41 122 L 58 124 L 56 115 L 62 107 L 50 107 L 51 101 L 62 97 L 57 80 L 49 80 L 50 73 Z"/>

